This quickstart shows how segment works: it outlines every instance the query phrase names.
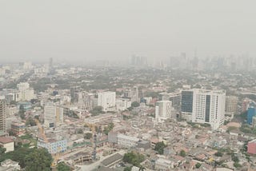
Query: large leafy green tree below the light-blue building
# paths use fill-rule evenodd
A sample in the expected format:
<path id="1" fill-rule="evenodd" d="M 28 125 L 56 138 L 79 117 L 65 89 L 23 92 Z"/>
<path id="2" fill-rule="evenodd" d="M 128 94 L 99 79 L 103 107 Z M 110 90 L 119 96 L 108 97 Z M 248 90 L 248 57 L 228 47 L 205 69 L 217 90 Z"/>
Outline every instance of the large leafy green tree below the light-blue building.
<path id="1" fill-rule="evenodd" d="M 50 171 L 50 165 L 53 161 L 47 149 L 34 149 L 34 151 L 25 157 L 26 171 Z"/>

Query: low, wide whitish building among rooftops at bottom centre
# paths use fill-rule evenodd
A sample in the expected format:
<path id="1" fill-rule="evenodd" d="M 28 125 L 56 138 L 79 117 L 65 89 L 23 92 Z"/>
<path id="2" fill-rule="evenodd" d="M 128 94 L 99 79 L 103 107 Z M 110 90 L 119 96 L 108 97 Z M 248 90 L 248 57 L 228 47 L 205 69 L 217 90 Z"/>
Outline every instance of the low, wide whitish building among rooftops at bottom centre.
<path id="1" fill-rule="evenodd" d="M 118 134 L 118 145 L 126 148 L 135 147 L 139 139 L 137 137 L 130 137 L 123 134 Z"/>

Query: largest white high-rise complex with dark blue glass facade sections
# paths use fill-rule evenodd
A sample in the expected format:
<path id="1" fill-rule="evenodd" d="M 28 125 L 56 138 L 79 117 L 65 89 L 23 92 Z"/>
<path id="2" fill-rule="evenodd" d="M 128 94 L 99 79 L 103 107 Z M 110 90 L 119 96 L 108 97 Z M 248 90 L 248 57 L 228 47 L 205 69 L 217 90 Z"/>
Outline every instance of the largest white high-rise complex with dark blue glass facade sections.
<path id="1" fill-rule="evenodd" d="M 218 129 L 224 123 L 224 90 L 190 89 L 182 91 L 182 117 L 195 123 L 208 123 Z"/>

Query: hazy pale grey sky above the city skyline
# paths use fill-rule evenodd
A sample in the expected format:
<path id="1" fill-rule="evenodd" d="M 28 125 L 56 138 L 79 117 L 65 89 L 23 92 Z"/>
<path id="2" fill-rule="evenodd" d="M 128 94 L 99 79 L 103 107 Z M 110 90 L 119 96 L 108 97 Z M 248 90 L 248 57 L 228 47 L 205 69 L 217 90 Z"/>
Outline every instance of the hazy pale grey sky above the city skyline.
<path id="1" fill-rule="evenodd" d="M 0 0 L 0 62 L 256 54 L 255 0 Z M 256 56 L 255 56 L 256 58 Z"/>

